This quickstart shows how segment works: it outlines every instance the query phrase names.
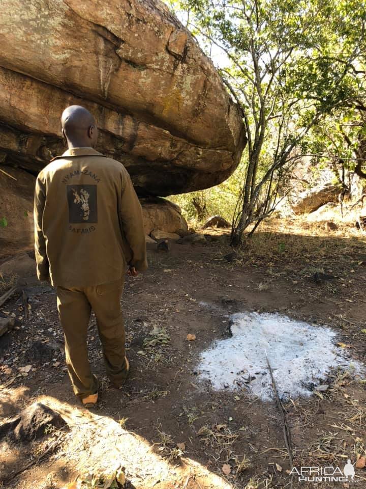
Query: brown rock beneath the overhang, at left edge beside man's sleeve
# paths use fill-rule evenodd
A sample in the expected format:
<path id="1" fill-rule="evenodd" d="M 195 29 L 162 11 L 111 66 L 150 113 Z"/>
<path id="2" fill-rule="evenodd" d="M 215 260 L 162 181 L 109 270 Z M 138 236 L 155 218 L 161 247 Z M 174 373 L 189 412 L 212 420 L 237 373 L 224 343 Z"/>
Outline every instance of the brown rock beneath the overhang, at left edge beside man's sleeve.
<path id="1" fill-rule="evenodd" d="M 0 166 L 0 256 L 33 248 L 35 182 L 23 170 Z"/>

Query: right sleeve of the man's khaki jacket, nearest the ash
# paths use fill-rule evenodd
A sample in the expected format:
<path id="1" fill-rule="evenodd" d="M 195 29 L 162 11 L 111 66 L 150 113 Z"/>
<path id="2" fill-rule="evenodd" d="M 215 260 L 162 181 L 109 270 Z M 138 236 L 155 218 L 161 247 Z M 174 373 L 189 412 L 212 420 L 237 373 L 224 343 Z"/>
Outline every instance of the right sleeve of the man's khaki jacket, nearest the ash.
<path id="1" fill-rule="evenodd" d="M 147 268 L 147 256 L 141 204 L 137 198 L 130 175 L 127 170 L 123 173 L 119 218 L 121 231 L 131 250 L 131 256 L 129 257 L 131 259 L 128 264 L 134 266 L 136 270 L 144 271 Z"/>

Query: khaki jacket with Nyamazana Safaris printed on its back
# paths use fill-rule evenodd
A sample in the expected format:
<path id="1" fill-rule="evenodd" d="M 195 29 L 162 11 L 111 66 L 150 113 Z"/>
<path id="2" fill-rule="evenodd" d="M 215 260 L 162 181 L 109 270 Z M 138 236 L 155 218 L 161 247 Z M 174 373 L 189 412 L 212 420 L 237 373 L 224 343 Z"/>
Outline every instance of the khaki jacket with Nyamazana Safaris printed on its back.
<path id="1" fill-rule="evenodd" d="M 34 200 L 37 275 L 53 286 L 86 287 L 147 268 L 142 210 L 118 161 L 92 148 L 53 158 Z"/>

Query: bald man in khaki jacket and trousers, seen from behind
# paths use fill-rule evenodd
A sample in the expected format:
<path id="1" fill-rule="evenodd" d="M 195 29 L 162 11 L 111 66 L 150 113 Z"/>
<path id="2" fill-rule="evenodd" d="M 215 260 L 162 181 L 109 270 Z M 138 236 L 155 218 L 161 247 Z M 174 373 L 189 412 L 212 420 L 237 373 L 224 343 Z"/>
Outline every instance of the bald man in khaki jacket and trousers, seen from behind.
<path id="1" fill-rule="evenodd" d="M 92 114 L 72 105 L 61 124 L 69 149 L 53 158 L 36 181 L 37 275 L 56 287 L 73 389 L 85 406 L 92 406 L 98 380 L 87 356 L 90 312 L 97 318 L 107 374 L 120 388 L 129 370 L 120 294 L 127 266 L 133 277 L 147 268 L 145 234 L 126 169 L 93 149 L 98 130 Z"/>

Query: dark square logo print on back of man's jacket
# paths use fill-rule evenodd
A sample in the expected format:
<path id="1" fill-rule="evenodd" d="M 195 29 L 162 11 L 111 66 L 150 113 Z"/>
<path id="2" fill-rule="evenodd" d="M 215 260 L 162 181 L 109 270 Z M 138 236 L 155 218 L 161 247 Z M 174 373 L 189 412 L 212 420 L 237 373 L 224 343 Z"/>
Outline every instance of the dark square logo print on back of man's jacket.
<path id="1" fill-rule="evenodd" d="M 98 223 L 97 185 L 66 185 L 69 223 Z"/>

